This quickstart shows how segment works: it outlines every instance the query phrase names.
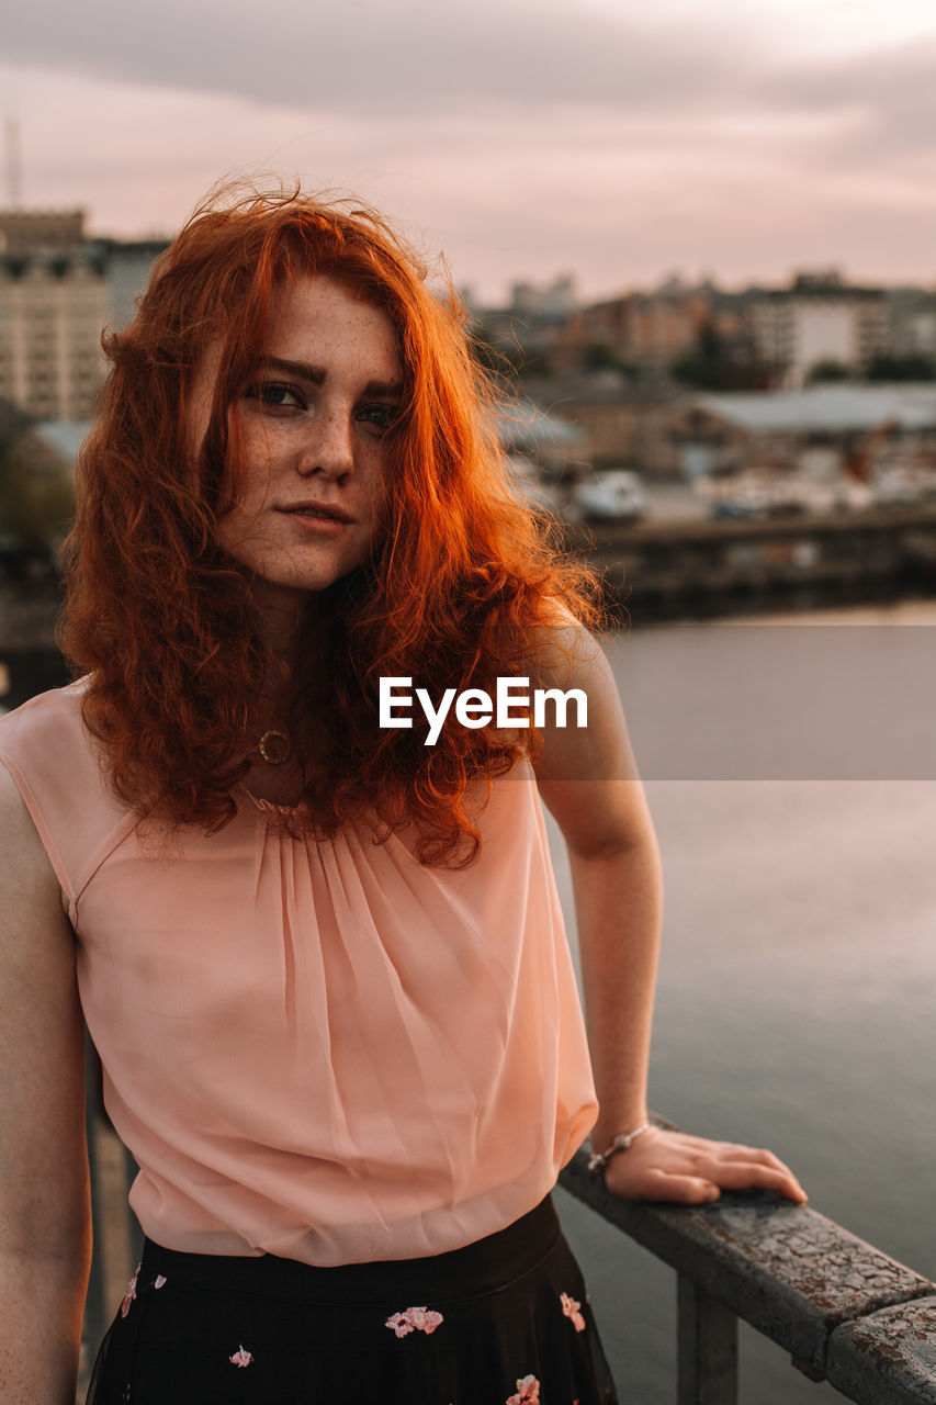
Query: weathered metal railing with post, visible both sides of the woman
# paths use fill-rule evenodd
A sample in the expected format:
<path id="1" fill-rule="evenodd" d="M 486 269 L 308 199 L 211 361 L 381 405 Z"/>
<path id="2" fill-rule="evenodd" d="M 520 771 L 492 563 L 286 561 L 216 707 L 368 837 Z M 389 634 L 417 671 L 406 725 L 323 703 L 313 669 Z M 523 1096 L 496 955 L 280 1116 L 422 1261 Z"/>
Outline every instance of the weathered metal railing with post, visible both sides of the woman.
<path id="1" fill-rule="evenodd" d="M 94 1078 L 91 1062 L 91 1350 L 139 1256 L 139 1227 L 126 1207 L 136 1168 L 103 1121 Z M 676 1270 L 677 1405 L 736 1405 L 739 1318 L 810 1380 L 859 1405 L 936 1405 L 936 1284 L 835 1221 L 756 1194 L 725 1194 L 704 1207 L 620 1200 L 589 1172 L 585 1149 L 559 1184 Z"/>

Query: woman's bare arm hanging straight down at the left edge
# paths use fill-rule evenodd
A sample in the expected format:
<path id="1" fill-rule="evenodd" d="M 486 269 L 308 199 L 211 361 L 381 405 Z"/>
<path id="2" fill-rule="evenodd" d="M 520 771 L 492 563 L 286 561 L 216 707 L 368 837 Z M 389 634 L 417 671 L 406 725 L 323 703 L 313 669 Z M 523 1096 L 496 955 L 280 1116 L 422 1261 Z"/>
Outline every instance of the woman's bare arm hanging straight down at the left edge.
<path id="1" fill-rule="evenodd" d="M 90 1263 L 74 939 L 0 766 L 0 1399 L 73 1405 Z"/>

